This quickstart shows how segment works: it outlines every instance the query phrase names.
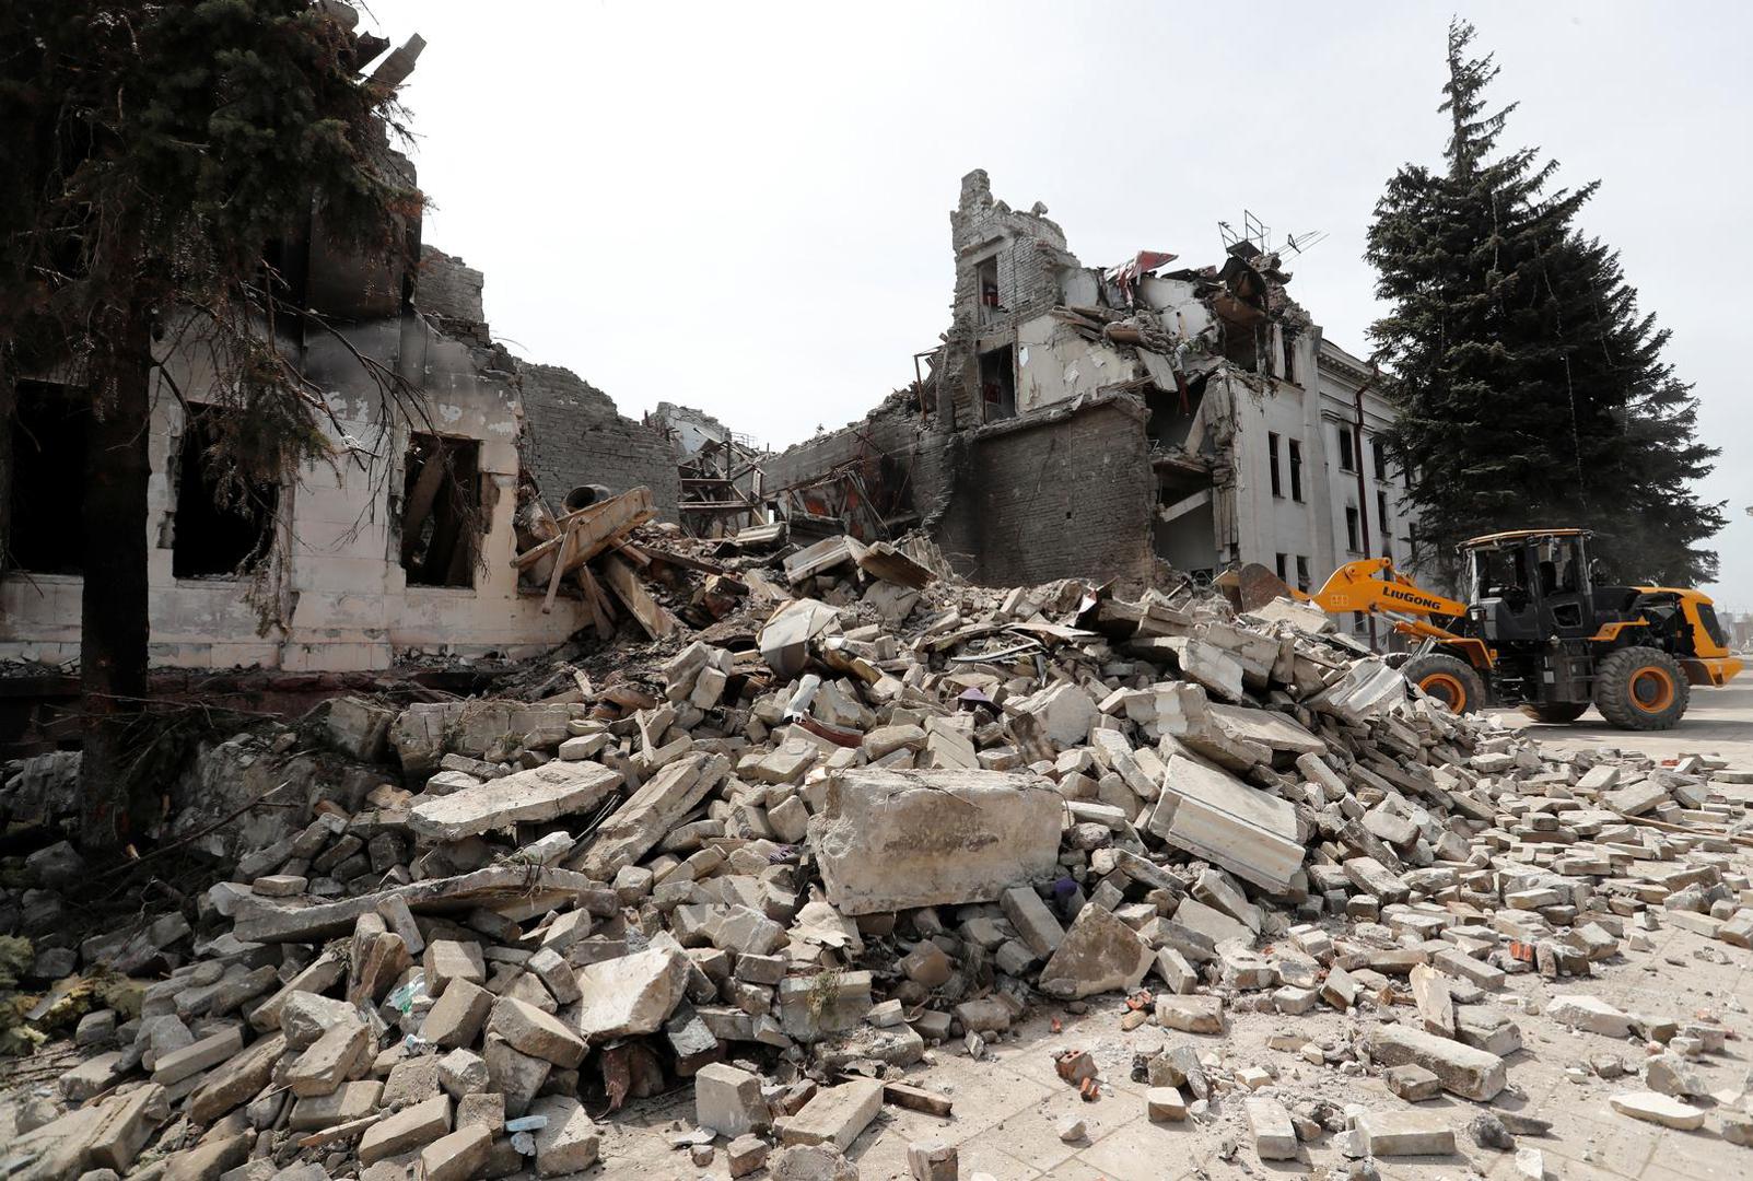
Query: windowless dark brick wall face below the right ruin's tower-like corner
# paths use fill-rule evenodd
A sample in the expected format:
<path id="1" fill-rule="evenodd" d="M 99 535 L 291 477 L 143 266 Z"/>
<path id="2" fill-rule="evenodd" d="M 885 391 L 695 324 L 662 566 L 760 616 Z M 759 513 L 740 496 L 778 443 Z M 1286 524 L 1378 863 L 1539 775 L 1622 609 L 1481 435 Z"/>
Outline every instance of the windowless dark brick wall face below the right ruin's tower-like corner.
<path id="1" fill-rule="evenodd" d="M 1155 478 L 1134 400 L 987 428 L 964 463 L 940 545 L 976 582 L 1150 576 Z"/>

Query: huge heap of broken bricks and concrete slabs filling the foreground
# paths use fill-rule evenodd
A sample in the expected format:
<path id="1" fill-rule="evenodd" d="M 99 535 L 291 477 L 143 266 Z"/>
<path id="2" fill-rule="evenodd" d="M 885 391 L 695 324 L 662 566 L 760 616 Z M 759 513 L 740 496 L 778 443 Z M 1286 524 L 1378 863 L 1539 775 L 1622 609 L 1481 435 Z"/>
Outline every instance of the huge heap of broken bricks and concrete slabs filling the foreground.
<path id="1" fill-rule="evenodd" d="M 775 562 L 747 576 L 780 598 L 759 626 L 649 675 L 333 703 L 326 741 L 379 781 L 245 852 L 198 913 L 82 944 L 145 981 L 138 1011 L 84 1015 L 93 1053 L 7 1172 L 561 1176 L 614 1163 L 622 1104 L 685 1085 L 696 1167 L 857 1176 L 841 1153 L 885 1106 L 954 1118 L 912 1067 L 1103 995 L 1164 1032 L 1132 1062 L 1152 1120 L 1241 1120 L 1262 1160 L 1329 1134 L 1453 1151 L 1455 1113 L 1416 1107 L 1446 1092 L 1504 1148 L 1539 1130 L 1483 1107 L 1522 972 L 1564 983 L 1548 1018 L 1660 1050 L 1618 1109 L 1704 1123 L 1695 1060 L 1727 1030 L 1586 979 L 1658 927 L 1753 944 L 1718 760 L 1451 717 L 1287 601 L 989 590 L 850 538 Z M 77 878 L 67 853 L 42 890 Z M 1175 1041 L 1317 1009 L 1352 1041 L 1276 1048 L 1413 1106 L 1294 1106 Z M 1099 1095 L 1087 1051 L 1055 1067 Z M 1753 1132 L 1728 1104 L 1713 1123 Z M 910 1160 L 955 1176 L 954 1146 Z"/>

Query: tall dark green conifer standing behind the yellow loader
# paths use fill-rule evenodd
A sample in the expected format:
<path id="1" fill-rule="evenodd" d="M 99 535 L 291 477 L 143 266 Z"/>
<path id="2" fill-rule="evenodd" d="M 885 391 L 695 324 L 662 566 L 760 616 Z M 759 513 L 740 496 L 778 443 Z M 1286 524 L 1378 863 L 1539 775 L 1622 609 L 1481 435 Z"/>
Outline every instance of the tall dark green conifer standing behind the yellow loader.
<path id="1" fill-rule="evenodd" d="M 1402 166 L 1366 251 L 1392 305 L 1371 338 L 1415 473 L 1418 557 L 1453 580 L 1469 536 L 1581 526 L 1615 580 L 1707 582 L 1702 543 L 1725 519 L 1690 487 L 1718 456 L 1695 436 L 1692 385 L 1618 252 L 1574 224 L 1599 182 L 1557 187 L 1537 149 L 1497 151 L 1515 103 L 1487 110 L 1497 67 L 1467 54 L 1473 37 L 1450 25 L 1448 168 Z"/>

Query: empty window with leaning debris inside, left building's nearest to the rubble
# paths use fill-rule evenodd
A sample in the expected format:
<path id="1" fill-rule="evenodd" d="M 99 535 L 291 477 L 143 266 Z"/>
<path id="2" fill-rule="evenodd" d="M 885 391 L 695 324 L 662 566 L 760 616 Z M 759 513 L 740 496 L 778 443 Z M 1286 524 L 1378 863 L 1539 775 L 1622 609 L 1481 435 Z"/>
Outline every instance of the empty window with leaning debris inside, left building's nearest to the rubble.
<path id="1" fill-rule="evenodd" d="M 414 435 L 401 484 L 401 568 L 410 587 L 473 587 L 484 529 L 480 440 Z"/>

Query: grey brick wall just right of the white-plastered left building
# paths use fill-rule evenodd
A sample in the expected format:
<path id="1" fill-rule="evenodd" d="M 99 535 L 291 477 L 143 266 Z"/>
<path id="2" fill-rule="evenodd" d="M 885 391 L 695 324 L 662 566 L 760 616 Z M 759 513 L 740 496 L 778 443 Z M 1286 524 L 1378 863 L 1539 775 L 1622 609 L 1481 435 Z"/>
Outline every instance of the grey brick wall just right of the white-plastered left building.
<path id="1" fill-rule="evenodd" d="M 559 512 L 578 484 L 624 492 L 640 484 L 664 520 L 677 519 L 682 485 L 675 449 L 643 422 L 622 417 L 614 400 L 557 364 L 517 364 L 524 400 L 519 454 L 549 508 Z"/>

